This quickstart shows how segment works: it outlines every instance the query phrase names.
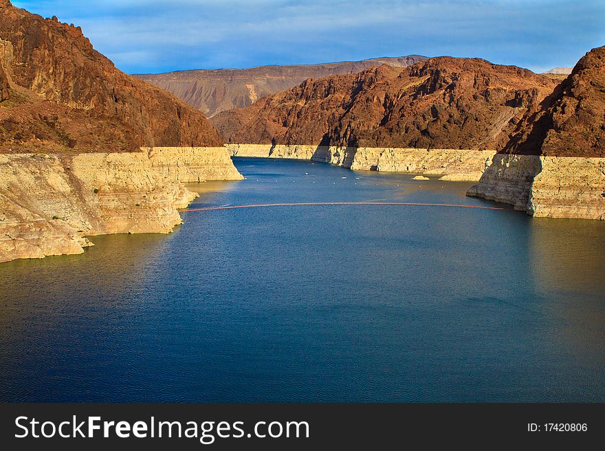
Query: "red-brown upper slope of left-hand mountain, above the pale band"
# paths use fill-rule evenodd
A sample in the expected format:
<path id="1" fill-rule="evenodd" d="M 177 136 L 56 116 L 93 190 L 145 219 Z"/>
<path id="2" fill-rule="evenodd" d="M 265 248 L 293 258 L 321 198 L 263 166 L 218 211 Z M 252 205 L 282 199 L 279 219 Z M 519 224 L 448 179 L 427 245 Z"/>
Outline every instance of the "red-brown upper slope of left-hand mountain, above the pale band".
<path id="1" fill-rule="evenodd" d="M 43 19 L 8 0 L 0 0 L 0 62 L 4 150 L 222 143 L 199 111 L 116 69 L 80 27 Z"/>

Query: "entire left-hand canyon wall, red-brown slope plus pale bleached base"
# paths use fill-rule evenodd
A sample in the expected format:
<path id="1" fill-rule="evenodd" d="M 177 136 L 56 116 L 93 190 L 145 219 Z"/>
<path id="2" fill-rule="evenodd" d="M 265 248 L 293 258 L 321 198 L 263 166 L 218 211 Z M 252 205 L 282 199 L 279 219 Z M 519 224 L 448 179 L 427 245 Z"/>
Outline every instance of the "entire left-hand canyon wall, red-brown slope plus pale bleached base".
<path id="1" fill-rule="evenodd" d="M 0 0 L 0 262 L 81 253 L 87 235 L 168 233 L 196 196 L 182 183 L 241 178 L 222 144 L 80 27 Z"/>

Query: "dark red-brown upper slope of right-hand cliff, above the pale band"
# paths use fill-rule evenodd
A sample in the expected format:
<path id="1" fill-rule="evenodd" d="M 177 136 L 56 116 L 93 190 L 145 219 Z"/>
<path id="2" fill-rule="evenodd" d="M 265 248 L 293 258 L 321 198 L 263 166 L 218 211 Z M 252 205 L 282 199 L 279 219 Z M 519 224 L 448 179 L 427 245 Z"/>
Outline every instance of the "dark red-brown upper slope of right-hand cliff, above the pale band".
<path id="1" fill-rule="evenodd" d="M 505 152 L 549 157 L 605 157 L 605 47 L 588 52 L 530 111 Z"/>

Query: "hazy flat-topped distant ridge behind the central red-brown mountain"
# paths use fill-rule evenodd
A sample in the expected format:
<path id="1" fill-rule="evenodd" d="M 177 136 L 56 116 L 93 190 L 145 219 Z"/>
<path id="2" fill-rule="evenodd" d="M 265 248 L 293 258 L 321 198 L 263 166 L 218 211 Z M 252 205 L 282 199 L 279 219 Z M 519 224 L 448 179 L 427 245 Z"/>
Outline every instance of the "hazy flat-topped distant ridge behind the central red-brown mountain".
<path id="1" fill-rule="evenodd" d="M 208 117 L 232 108 L 250 106 L 267 95 L 293 88 L 307 78 L 358 73 L 368 67 L 388 64 L 406 67 L 425 56 L 372 58 L 362 61 L 330 62 L 322 65 L 262 66 L 250 69 L 178 71 L 137 75 L 195 106 Z"/>

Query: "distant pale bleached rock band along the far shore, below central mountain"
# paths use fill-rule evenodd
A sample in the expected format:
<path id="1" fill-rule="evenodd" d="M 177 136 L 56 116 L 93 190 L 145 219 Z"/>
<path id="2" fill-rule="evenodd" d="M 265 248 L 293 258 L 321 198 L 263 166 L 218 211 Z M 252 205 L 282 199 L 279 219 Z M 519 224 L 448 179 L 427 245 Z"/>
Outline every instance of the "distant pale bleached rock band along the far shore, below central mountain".
<path id="1" fill-rule="evenodd" d="M 284 144 L 228 144 L 234 157 L 320 161 L 352 170 L 404 172 L 450 181 L 478 181 L 496 152 L 460 149 L 340 148 Z"/>

